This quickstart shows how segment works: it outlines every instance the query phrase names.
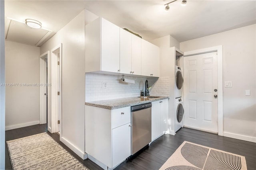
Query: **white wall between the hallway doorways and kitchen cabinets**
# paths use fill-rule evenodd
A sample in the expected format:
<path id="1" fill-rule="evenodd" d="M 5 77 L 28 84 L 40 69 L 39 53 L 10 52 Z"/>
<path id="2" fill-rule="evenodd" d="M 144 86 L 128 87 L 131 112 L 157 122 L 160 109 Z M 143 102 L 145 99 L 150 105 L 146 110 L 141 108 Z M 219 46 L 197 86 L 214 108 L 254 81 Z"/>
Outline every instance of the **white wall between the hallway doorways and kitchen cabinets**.
<path id="1" fill-rule="evenodd" d="M 40 48 L 62 43 L 62 132 L 60 141 L 84 158 L 85 47 L 84 10 Z"/>

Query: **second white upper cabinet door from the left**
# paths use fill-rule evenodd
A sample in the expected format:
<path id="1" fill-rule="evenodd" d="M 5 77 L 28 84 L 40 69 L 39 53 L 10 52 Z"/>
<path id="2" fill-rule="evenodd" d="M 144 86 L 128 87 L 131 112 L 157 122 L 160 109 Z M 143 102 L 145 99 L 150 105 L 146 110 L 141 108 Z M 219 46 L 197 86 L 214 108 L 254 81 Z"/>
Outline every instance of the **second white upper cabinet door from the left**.
<path id="1" fill-rule="evenodd" d="M 120 72 L 131 74 L 132 71 L 132 34 L 120 28 Z"/>

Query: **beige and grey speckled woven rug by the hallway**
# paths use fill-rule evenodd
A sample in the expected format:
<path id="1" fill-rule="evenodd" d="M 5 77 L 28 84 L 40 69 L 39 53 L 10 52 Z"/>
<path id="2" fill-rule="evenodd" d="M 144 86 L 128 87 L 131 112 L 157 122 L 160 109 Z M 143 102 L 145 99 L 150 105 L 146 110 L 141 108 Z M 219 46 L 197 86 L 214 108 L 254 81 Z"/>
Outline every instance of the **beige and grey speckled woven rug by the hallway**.
<path id="1" fill-rule="evenodd" d="M 13 170 L 88 170 L 47 133 L 6 143 Z"/>

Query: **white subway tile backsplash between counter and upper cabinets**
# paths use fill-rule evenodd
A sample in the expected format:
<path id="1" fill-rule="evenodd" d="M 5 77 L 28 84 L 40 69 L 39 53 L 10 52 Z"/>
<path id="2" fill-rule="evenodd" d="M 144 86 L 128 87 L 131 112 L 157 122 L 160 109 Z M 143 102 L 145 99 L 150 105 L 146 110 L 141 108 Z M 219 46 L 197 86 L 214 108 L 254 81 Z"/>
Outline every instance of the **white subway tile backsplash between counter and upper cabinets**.
<path id="1" fill-rule="evenodd" d="M 170 96 L 169 77 L 125 77 L 135 80 L 135 84 L 123 83 L 121 78 L 122 76 L 86 73 L 86 102 L 140 96 L 140 90 L 145 91 L 146 80 L 151 86 L 151 96 Z M 106 82 L 107 88 L 102 88 L 102 82 Z"/>

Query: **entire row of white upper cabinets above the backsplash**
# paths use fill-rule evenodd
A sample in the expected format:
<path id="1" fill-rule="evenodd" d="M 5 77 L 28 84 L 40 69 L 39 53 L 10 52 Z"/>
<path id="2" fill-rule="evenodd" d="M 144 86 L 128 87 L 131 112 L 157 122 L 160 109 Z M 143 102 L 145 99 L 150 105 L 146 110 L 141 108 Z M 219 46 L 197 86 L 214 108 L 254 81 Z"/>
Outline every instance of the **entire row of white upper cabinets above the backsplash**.
<path id="1" fill-rule="evenodd" d="M 86 72 L 159 76 L 159 48 L 98 18 L 85 26 Z"/>

